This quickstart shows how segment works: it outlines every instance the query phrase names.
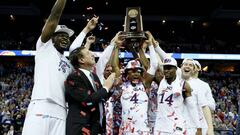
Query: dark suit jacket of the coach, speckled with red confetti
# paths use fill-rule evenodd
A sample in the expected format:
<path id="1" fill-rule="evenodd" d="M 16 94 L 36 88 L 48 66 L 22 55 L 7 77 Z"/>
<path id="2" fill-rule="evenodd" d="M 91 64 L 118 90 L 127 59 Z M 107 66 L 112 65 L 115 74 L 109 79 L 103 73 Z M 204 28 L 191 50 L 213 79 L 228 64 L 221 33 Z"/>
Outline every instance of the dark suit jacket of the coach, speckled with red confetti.
<path id="1" fill-rule="evenodd" d="M 70 74 L 65 82 L 65 97 L 69 111 L 66 121 L 66 135 L 97 135 L 100 127 L 99 102 L 107 99 L 108 93 L 102 87 L 96 74 L 93 74 L 97 91 L 79 69 Z"/>

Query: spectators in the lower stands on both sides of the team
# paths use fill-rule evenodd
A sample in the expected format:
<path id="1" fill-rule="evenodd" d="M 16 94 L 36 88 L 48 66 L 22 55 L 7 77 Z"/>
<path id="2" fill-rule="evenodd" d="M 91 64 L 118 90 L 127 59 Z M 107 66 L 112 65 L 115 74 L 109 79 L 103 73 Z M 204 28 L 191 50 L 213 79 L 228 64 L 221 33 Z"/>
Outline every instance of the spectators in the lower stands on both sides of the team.
<path id="1" fill-rule="evenodd" d="M 0 63 L 0 134 L 21 134 L 33 86 L 34 64 Z M 240 78 L 230 73 L 203 72 L 216 100 L 213 112 L 215 134 L 236 132 L 240 104 Z"/>

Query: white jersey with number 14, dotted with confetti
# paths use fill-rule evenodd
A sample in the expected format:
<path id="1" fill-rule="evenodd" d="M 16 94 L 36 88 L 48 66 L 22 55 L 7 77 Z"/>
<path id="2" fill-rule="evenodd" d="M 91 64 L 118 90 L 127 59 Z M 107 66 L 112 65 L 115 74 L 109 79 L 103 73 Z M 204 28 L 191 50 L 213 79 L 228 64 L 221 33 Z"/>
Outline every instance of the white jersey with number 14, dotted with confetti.
<path id="1" fill-rule="evenodd" d="M 184 134 L 186 123 L 183 117 L 184 98 L 182 83 L 177 77 L 171 84 L 162 79 L 158 89 L 158 107 L 154 132 Z"/>

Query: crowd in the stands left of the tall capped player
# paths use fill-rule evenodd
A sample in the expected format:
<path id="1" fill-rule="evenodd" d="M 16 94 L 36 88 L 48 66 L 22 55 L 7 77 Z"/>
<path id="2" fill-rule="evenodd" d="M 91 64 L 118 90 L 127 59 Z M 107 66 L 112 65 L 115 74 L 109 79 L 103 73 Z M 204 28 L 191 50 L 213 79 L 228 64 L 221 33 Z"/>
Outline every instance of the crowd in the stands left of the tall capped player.
<path id="1" fill-rule="evenodd" d="M 21 134 L 32 88 L 32 65 L 0 64 L 1 135 Z"/>

